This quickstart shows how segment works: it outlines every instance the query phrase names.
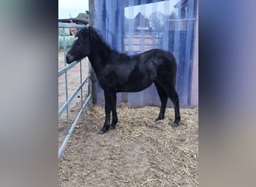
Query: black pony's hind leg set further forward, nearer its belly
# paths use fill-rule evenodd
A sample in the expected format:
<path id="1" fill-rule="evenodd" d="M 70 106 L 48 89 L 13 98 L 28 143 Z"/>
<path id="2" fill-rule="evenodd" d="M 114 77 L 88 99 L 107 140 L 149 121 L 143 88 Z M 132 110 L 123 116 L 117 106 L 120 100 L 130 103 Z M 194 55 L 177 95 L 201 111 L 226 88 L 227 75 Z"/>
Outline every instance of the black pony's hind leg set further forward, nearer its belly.
<path id="1" fill-rule="evenodd" d="M 159 115 L 155 120 L 155 121 L 158 121 L 158 120 L 162 120 L 162 119 L 165 118 L 165 108 L 166 108 L 166 104 L 167 104 L 168 95 L 165 92 L 165 90 L 162 88 L 162 86 L 159 85 L 158 82 L 154 82 L 154 83 L 156 85 L 156 90 L 157 90 L 157 93 L 159 95 L 159 99 L 161 101 L 161 107 L 160 107 Z"/>

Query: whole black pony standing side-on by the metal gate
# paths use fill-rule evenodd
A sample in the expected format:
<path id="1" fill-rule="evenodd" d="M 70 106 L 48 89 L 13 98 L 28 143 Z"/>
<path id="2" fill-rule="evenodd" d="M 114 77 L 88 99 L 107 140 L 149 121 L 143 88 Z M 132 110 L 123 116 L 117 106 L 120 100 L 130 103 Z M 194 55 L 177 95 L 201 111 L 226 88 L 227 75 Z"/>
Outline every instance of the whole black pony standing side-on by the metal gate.
<path id="1" fill-rule="evenodd" d="M 76 34 L 76 40 L 67 52 L 67 64 L 88 56 L 94 68 L 100 87 L 104 90 L 106 120 L 101 131 L 110 126 L 115 129 L 118 123 L 116 111 L 116 93 L 137 92 L 156 85 L 161 108 L 156 120 L 165 117 L 168 97 L 174 103 L 175 120 L 172 126 L 180 122 L 179 96 L 175 91 L 177 64 L 174 56 L 162 49 L 151 49 L 139 55 L 125 55 L 109 47 L 94 28 L 82 28 Z"/>

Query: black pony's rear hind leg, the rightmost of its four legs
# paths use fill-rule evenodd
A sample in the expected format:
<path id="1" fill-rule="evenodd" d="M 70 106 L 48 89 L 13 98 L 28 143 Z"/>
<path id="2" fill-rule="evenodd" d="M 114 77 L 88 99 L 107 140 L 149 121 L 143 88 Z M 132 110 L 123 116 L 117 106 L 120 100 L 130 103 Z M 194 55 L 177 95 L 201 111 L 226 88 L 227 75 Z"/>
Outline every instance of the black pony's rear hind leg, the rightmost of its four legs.
<path id="1" fill-rule="evenodd" d="M 180 123 L 180 104 L 179 104 L 179 95 L 175 90 L 174 86 L 167 89 L 168 96 L 170 97 L 171 101 L 174 103 L 174 111 L 175 111 L 175 119 L 172 126 L 178 126 Z"/>

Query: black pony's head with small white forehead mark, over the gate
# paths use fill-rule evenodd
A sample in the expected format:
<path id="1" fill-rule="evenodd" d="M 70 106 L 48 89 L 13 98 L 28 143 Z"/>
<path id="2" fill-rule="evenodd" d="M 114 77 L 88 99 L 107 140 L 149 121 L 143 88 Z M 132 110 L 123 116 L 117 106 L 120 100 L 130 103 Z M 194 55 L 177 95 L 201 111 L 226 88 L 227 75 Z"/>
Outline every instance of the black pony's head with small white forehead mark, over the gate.
<path id="1" fill-rule="evenodd" d="M 70 64 L 73 61 L 79 61 L 82 58 L 90 55 L 91 46 L 90 46 L 90 27 L 80 29 L 75 36 L 75 41 L 71 46 L 70 50 L 67 52 L 66 60 L 67 64 Z"/>

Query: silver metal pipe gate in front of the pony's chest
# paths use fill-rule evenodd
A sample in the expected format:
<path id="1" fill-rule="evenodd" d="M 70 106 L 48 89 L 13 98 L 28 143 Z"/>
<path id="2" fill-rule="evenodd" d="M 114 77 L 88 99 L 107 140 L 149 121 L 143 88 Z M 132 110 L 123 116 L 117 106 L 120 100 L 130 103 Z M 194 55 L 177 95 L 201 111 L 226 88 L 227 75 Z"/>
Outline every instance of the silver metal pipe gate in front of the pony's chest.
<path id="1" fill-rule="evenodd" d="M 76 128 L 77 123 L 79 121 L 79 118 L 82 115 L 82 112 L 84 111 L 85 107 L 88 105 L 92 105 L 92 81 L 91 81 L 91 64 L 88 62 L 88 75 L 85 76 L 84 79 L 82 79 L 82 61 L 73 61 L 71 64 L 66 64 L 66 53 L 67 53 L 67 36 L 65 36 L 65 28 L 84 28 L 85 25 L 77 25 L 74 23 L 64 23 L 64 22 L 58 22 L 58 28 L 62 29 L 63 34 L 63 52 L 64 52 L 64 67 L 61 68 L 61 70 L 58 70 L 58 78 L 61 76 L 64 76 L 64 83 L 65 83 L 65 92 L 66 92 L 66 99 L 65 102 L 59 107 L 58 109 L 58 120 L 60 121 L 61 115 L 66 111 L 66 124 L 67 124 L 67 132 L 64 136 L 64 141 L 61 142 L 61 146 L 58 148 L 58 158 L 60 158 L 61 153 L 64 151 L 64 148 L 67 144 L 67 142 L 70 139 L 70 136 L 73 132 L 73 130 Z M 62 37 L 62 35 L 61 35 Z M 69 84 L 67 81 L 67 72 L 71 70 L 73 67 L 75 67 L 77 64 L 80 64 L 79 66 L 79 76 L 80 76 L 80 82 L 79 86 L 73 91 L 73 93 L 69 96 Z M 83 88 L 85 87 L 86 83 L 88 83 L 88 96 L 86 99 L 83 99 Z M 70 125 L 70 103 L 73 102 L 74 99 L 76 99 L 77 94 L 81 94 L 80 96 L 80 102 L 81 102 L 81 109 L 79 110 L 78 114 L 76 114 L 75 120 L 73 120 L 73 123 Z"/>

